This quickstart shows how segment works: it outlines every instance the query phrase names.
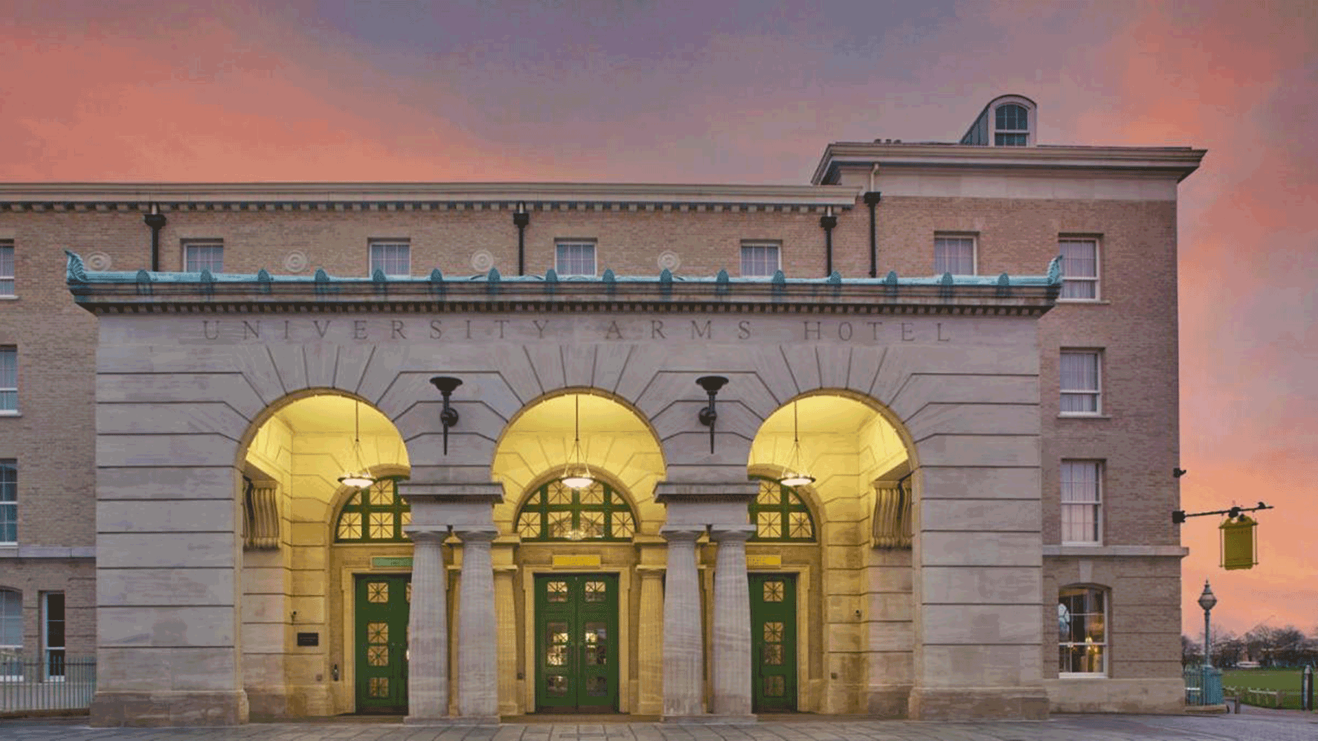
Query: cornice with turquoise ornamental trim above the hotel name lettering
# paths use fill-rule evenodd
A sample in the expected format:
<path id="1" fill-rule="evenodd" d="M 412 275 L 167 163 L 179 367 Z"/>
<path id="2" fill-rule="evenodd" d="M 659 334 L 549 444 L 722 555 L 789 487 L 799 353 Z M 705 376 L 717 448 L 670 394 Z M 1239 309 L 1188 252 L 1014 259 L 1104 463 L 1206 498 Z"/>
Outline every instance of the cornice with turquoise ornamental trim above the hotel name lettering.
<path id="1" fill-rule="evenodd" d="M 758 312 L 958 314 L 1037 316 L 1061 287 L 1058 260 L 1046 276 L 899 278 L 614 277 L 503 278 L 497 270 L 449 278 L 88 272 L 69 253 L 69 290 L 94 314 L 145 312 Z"/>

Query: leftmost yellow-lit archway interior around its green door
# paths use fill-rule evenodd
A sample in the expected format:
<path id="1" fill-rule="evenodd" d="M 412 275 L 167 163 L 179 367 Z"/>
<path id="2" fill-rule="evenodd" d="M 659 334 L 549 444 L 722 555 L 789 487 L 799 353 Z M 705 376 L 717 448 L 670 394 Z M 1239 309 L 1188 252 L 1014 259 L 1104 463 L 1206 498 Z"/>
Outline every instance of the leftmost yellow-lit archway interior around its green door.
<path id="1" fill-rule="evenodd" d="M 241 630 L 252 713 L 356 709 L 356 581 L 380 571 L 378 558 L 410 571 L 407 508 L 397 496 L 410 472 L 406 446 L 373 405 L 335 389 L 272 403 L 245 442 Z M 376 483 L 345 485 L 348 472 Z"/>

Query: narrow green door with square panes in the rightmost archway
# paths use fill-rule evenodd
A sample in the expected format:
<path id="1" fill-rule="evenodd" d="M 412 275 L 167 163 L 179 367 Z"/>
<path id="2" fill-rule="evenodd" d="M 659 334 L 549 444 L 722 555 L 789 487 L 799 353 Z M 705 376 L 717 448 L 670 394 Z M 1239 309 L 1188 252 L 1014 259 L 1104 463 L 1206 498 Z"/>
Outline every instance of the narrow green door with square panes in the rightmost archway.
<path id="1" fill-rule="evenodd" d="M 796 575 L 750 575 L 751 709 L 796 709 Z"/>

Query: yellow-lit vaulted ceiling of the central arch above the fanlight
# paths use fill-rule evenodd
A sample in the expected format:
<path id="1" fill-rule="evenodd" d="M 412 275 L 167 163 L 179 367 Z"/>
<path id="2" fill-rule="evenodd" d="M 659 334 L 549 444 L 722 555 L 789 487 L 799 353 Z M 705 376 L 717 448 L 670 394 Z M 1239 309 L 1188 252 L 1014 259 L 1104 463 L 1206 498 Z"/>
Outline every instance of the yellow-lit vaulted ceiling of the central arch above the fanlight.
<path id="1" fill-rule="evenodd" d="M 664 517 L 654 502 L 664 475 L 659 440 L 630 407 L 585 389 L 531 402 L 505 429 L 492 471 L 505 492 L 494 521 L 511 533 L 525 494 L 561 475 L 572 448 L 573 402 L 581 405 L 581 450 L 590 471 L 630 494 L 641 530 L 655 533 Z"/>

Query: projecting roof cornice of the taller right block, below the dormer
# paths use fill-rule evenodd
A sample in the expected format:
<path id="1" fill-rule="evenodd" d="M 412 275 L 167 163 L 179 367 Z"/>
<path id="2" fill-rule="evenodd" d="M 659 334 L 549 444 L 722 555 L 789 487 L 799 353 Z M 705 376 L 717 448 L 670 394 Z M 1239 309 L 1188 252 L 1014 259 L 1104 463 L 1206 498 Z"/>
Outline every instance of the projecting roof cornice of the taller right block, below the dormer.
<path id="1" fill-rule="evenodd" d="M 812 182 L 825 183 L 838 167 L 871 166 L 931 170 L 1054 170 L 1093 175 L 1103 171 L 1185 179 L 1203 160 L 1189 146 L 970 146 L 960 144 L 834 142 L 824 150 Z M 821 186 L 824 187 L 824 186 Z"/>

